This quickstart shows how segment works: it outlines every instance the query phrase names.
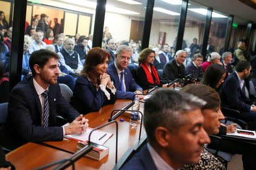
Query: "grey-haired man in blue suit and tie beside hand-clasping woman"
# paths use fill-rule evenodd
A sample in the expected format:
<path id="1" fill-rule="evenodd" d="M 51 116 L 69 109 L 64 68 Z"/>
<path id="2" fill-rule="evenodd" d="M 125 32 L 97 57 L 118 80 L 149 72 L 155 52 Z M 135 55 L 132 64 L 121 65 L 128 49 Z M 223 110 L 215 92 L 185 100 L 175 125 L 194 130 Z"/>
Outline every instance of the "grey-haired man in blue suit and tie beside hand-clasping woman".
<path id="1" fill-rule="evenodd" d="M 131 59 L 132 49 L 127 45 L 119 45 L 114 63 L 109 64 L 108 74 L 117 89 L 117 99 L 133 99 L 134 94 L 143 98 L 143 89 L 134 81 L 127 68 Z"/>

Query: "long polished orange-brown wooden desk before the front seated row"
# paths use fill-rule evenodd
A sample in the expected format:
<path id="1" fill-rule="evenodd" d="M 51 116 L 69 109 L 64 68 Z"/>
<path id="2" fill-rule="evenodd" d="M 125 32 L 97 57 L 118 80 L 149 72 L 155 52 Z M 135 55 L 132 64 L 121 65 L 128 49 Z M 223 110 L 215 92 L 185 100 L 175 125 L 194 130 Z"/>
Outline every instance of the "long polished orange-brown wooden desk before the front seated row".
<path id="1" fill-rule="evenodd" d="M 98 112 L 93 112 L 93 113 L 89 113 L 86 114 L 84 117 L 89 119 L 89 127 L 95 128 L 98 127 L 100 125 L 104 125 L 105 123 L 108 122 L 108 119 L 110 118 L 110 113 L 112 112 L 112 110 L 114 109 L 122 109 L 123 107 L 125 107 L 126 105 L 128 105 L 131 101 L 130 100 L 126 100 L 126 99 L 122 99 L 122 100 L 118 100 L 115 102 L 114 105 L 107 105 L 104 106 L 100 109 L 100 111 Z M 143 107 L 143 103 L 141 103 L 142 107 Z M 123 118 L 125 119 L 124 122 L 120 122 L 119 119 Z M 134 146 L 134 144 L 136 142 L 138 142 L 139 139 L 139 126 L 140 123 L 138 123 L 138 126 L 132 127 L 130 126 L 130 118 L 127 117 L 119 117 L 117 119 L 118 122 L 118 160 L 122 157 L 123 154 L 125 154 L 125 152 L 128 150 L 128 148 L 131 148 Z M 79 161 L 77 161 L 76 168 L 77 169 L 112 169 L 115 165 L 115 124 L 109 125 L 107 127 L 102 128 L 101 130 L 103 131 L 108 131 L 108 132 L 113 132 L 113 136 L 112 138 L 110 138 L 105 144 L 104 146 L 109 147 L 109 155 L 104 157 L 104 159 L 102 159 L 101 161 L 97 161 L 97 160 L 92 160 L 92 159 L 88 159 L 85 157 L 82 157 L 82 159 L 80 159 Z M 142 136 L 145 135 L 145 131 L 144 131 L 144 127 L 142 128 Z M 39 148 L 37 148 L 36 146 L 30 144 L 30 145 L 24 145 L 22 147 L 19 147 L 18 149 L 14 150 L 13 152 L 10 152 L 7 155 L 7 160 L 11 161 L 11 163 L 13 163 L 15 166 L 18 165 L 17 169 L 32 169 L 32 168 L 36 168 L 36 167 L 40 167 L 42 165 L 48 164 L 48 163 L 52 163 L 53 161 L 56 160 L 60 160 L 60 159 L 64 159 L 67 157 L 64 157 L 62 155 L 69 155 L 71 156 L 72 153 L 76 152 L 76 146 L 77 146 L 77 142 L 75 140 L 72 139 L 65 139 L 63 141 L 58 141 L 58 142 L 43 142 L 40 143 L 43 148 L 47 146 L 47 148 L 50 148 L 51 150 L 56 150 L 58 152 L 56 152 L 56 154 L 54 154 L 55 157 L 57 157 L 58 159 L 52 159 L 51 156 L 47 157 L 41 157 L 41 153 L 43 153 L 43 148 L 38 152 Z M 32 147 L 31 147 L 32 146 Z M 51 148 L 52 147 L 52 148 Z M 29 159 L 26 154 L 24 155 L 24 159 L 17 159 L 17 156 L 19 157 L 19 150 L 22 150 L 24 152 L 26 152 L 26 150 L 30 150 L 30 157 L 38 157 L 38 159 L 40 159 L 42 162 L 38 163 L 37 166 L 35 166 L 35 163 L 31 163 L 31 159 Z M 35 150 L 35 152 L 32 152 L 31 150 Z M 65 154 L 64 154 L 64 153 Z M 33 155 L 34 153 L 34 155 Z M 47 150 L 47 155 L 51 155 L 51 152 Z M 15 156 L 16 155 L 16 156 Z M 58 156 L 60 155 L 60 157 L 63 158 L 59 158 Z M 65 156 L 67 156 L 65 155 Z M 37 161 L 36 161 L 37 163 Z M 31 164 L 31 165 L 30 165 Z M 24 165 L 24 168 L 22 165 Z M 79 168 L 78 168 L 79 167 Z"/>

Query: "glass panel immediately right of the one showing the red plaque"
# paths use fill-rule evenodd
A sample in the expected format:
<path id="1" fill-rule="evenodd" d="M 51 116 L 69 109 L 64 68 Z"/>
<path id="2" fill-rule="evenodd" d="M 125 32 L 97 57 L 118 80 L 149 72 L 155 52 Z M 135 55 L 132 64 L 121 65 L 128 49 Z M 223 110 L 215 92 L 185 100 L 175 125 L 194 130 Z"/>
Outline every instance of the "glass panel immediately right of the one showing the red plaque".
<path id="1" fill-rule="evenodd" d="M 204 11 L 201 12 L 201 11 Z M 207 7 L 199 5 L 193 1 L 189 1 L 187 17 L 185 22 L 185 30 L 183 39 L 187 42 L 188 52 L 187 60 L 184 65 L 187 65 L 193 56 L 193 53 L 197 50 L 201 50 L 203 38 L 204 38 L 204 26 L 206 21 L 205 11 L 207 12 Z M 190 49 L 190 52 L 189 52 Z M 189 54 L 190 53 L 190 54 Z M 189 56 L 189 58 L 188 58 Z"/>

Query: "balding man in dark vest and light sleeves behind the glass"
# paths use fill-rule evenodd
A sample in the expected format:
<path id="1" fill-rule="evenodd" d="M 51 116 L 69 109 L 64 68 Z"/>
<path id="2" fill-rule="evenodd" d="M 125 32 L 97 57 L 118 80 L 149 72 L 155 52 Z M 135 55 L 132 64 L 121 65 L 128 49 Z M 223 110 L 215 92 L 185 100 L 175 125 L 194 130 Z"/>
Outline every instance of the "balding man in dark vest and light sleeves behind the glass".
<path id="1" fill-rule="evenodd" d="M 80 56 L 73 49 L 75 47 L 75 40 L 68 38 L 64 41 L 63 49 L 58 52 L 60 56 L 60 64 L 68 69 L 69 74 L 72 76 L 79 76 L 83 68 L 80 61 Z"/>

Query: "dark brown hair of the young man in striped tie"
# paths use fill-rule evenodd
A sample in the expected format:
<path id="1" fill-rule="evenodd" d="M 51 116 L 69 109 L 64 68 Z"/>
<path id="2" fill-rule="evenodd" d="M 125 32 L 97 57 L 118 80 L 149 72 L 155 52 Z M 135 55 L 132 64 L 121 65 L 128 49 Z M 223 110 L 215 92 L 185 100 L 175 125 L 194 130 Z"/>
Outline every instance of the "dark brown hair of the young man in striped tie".
<path id="1" fill-rule="evenodd" d="M 39 49 L 32 52 L 30 56 L 30 69 L 32 72 L 32 76 L 35 77 L 35 64 L 38 64 L 40 68 L 44 68 L 44 65 L 46 65 L 47 61 L 52 58 L 59 60 L 60 56 L 57 55 L 57 53 L 48 49 Z"/>

